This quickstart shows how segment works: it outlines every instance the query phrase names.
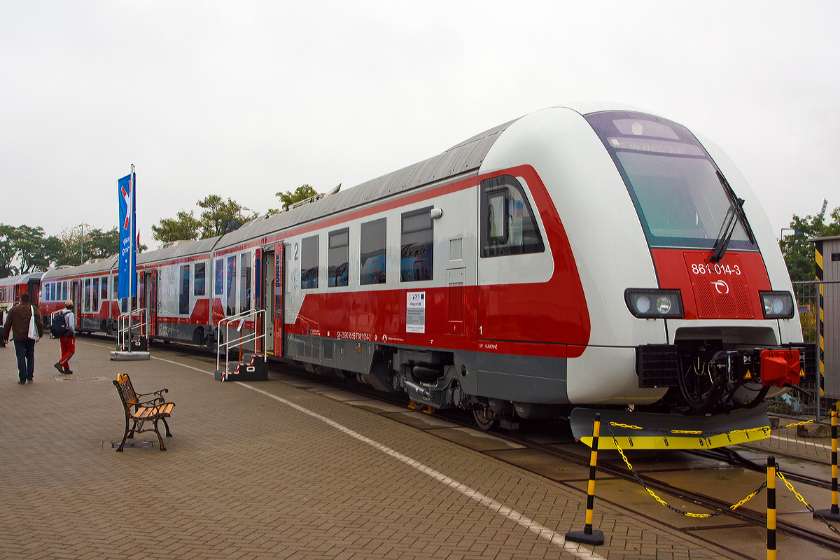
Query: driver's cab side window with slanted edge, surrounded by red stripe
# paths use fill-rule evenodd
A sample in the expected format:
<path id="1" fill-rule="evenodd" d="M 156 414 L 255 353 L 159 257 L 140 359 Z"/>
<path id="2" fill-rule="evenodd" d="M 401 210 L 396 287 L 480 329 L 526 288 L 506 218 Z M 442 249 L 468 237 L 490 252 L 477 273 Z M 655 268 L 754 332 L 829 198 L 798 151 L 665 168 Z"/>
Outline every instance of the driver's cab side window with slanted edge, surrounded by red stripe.
<path id="1" fill-rule="evenodd" d="M 481 181 L 480 228 L 482 257 L 545 251 L 528 196 L 511 175 Z"/>

